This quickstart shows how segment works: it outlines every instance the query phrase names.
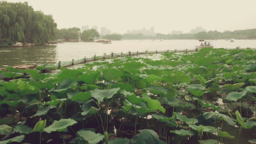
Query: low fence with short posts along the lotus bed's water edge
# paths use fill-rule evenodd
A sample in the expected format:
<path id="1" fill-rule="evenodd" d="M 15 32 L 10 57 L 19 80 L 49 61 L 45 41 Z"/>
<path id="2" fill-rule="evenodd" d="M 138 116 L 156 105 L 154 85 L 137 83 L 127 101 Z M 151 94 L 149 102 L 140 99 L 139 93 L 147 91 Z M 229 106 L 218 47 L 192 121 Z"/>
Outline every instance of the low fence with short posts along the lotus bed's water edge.
<path id="1" fill-rule="evenodd" d="M 225 48 L 225 49 L 254 49 L 256 50 L 256 48 L 239 48 L 239 47 L 236 47 L 236 48 Z M 197 52 L 199 51 L 199 49 L 172 49 L 172 50 L 162 50 L 162 51 L 143 51 L 143 52 L 139 52 L 139 51 L 136 51 L 136 52 L 120 52 L 120 53 L 114 53 L 114 52 L 111 52 L 111 54 L 104 54 L 103 56 L 96 56 L 96 54 L 91 57 L 91 58 L 82 58 L 80 60 L 74 60 L 72 59 L 72 61 L 59 61 L 55 67 L 57 68 L 60 68 L 60 67 L 71 67 L 73 65 L 78 65 L 78 64 L 82 64 L 82 63 L 87 63 L 87 62 L 90 62 L 90 61 L 97 61 L 97 60 L 102 60 L 102 59 L 109 59 L 109 58 L 117 58 L 117 57 L 122 57 L 122 56 L 138 56 L 140 54 L 161 54 L 161 53 L 169 53 L 169 52 L 175 52 L 175 53 L 178 53 L 178 52 Z"/>

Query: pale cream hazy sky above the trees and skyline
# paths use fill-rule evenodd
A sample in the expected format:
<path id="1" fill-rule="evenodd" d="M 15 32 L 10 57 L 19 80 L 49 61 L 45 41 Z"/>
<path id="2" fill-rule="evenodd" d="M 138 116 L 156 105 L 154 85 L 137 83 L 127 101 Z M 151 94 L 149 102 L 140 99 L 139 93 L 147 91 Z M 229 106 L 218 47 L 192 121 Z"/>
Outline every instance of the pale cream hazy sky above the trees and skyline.
<path id="1" fill-rule="evenodd" d="M 7 0 L 8 2 L 24 2 Z M 106 26 L 112 32 L 149 29 L 157 33 L 196 26 L 234 31 L 256 28 L 256 0 L 25 0 L 34 10 L 51 14 L 58 28 Z"/>

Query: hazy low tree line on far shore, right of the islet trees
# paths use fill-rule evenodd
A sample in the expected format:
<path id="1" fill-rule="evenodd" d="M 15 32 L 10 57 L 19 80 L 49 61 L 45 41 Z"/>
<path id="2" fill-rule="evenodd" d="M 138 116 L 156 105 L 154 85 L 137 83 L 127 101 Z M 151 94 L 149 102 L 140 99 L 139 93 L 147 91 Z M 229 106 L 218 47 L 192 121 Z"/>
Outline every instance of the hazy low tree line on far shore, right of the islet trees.
<path id="1" fill-rule="evenodd" d="M 157 33 L 156 36 L 144 36 L 142 34 L 124 34 L 122 35 L 123 39 L 131 40 L 131 39 L 225 39 L 225 38 L 237 38 L 237 39 L 252 39 L 256 38 L 256 29 L 245 29 L 245 30 L 237 30 L 237 31 L 224 31 L 223 33 L 219 31 L 202 31 L 199 33 L 191 34 L 184 33 L 179 35 L 164 35 L 162 33 Z"/>

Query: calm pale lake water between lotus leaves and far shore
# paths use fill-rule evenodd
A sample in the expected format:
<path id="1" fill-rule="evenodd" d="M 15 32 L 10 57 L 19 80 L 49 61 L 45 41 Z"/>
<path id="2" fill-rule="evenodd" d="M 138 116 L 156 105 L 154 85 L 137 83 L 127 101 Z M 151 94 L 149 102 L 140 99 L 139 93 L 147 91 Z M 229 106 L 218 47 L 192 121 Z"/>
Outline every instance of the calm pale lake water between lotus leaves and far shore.
<path id="1" fill-rule="evenodd" d="M 97 42 L 66 42 L 65 44 L 41 45 L 36 47 L 3 47 L 0 48 L 0 67 L 36 63 L 37 65 L 58 61 L 72 61 L 90 58 L 94 54 L 102 56 L 111 52 L 161 51 L 173 49 L 195 49 L 200 45 L 198 40 L 122 40 L 112 41 L 112 44 Z M 216 48 L 256 48 L 256 40 L 213 40 Z"/>

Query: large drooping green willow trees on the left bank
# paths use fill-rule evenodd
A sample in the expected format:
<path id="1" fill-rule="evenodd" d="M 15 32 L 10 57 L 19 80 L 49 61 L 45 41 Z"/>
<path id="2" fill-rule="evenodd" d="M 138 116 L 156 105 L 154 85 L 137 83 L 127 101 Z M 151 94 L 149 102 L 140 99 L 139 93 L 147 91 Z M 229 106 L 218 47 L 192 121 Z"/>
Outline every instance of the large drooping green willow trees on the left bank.
<path id="1" fill-rule="evenodd" d="M 44 44 L 56 38 L 57 24 L 52 15 L 34 11 L 28 3 L 0 1 L 0 43 Z M 1 45 L 0 44 L 0 45 Z"/>

